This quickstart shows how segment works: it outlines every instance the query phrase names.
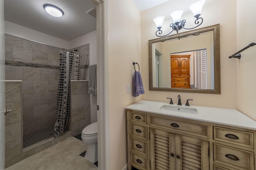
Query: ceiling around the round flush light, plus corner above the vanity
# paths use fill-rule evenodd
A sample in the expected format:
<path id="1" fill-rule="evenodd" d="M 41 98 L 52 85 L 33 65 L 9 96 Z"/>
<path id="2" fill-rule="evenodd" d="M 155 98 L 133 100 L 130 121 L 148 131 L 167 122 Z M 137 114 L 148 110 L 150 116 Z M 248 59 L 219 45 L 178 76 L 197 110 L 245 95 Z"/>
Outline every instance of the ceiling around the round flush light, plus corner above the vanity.
<path id="1" fill-rule="evenodd" d="M 133 0 L 140 11 L 168 0 Z M 63 10 L 60 18 L 50 16 L 43 5 Z M 96 18 L 86 11 L 96 7 L 92 0 L 4 0 L 4 19 L 36 31 L 70 41 L 96 30 Z"/>

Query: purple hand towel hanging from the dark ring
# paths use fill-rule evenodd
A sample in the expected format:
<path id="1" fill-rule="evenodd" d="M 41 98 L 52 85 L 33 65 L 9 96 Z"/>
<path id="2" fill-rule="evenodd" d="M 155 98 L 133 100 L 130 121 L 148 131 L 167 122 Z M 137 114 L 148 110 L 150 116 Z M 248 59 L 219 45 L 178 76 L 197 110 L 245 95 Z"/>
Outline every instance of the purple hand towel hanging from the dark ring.
<path id="1" fill-rule="evenodd" d="M 139 71 L 134 72 L 133 76 L 133 97 L 137 97 L 140 94 L 145 94 L 142 79 Z"/>

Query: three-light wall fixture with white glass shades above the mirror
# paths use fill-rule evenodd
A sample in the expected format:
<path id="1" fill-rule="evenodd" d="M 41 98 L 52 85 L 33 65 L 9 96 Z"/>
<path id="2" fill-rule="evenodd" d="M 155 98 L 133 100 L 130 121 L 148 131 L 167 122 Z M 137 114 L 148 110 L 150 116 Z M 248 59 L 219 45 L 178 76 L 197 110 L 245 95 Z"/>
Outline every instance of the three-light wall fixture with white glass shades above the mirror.
<path id="1" fill-rule="evenodd" d="M 194 4 L 191 4 L 189 9 L 193 12 L 194 17 L 196 18 L 195 20 L 195 24 L 198 24 L 195 27 L 192 28 L 186 28 L 184 27 L 186 20 L 180 20 L 183 10 L 177 10 L 171 13 L 171 17 L 174 21 L 174 23 L 170 24 L 170 27 L 172 28 L 172 31 L 170 33 L 172 33 L 174 30 L 178 33 L 179 29 L 194 29 L 196 27 L 198 27 L 199 25 L 201 25 L 203 23 L 203 18 L 199 17 L 201 15 L 201 11 L 202 11 L 202 7 L 204 5 L 205 0 L 200 0 L 198 2 L 195 2 Z M 158 37 L 164 37 L 166 35 L 169 35 L 170 33 L 166 34 L 166 35 L 161 35 L 162 34 L 162 23 L 164 21 L 164 16 L 158 16 L 154 19 L 154 22 L 156 23 L 156 27 L 157 27 L 157 31 L 156 31 L 156 36 Z"/>

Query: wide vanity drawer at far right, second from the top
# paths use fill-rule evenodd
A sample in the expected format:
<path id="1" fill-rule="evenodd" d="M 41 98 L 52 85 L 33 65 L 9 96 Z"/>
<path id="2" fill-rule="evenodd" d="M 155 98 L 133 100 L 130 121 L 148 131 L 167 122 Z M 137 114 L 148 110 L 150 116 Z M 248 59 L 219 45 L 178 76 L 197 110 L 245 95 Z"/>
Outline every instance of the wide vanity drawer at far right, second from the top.
<path id="1" fill-rule="evenodd" d="M 239 170 L 254 170 L 254 154 L 214 143 L 214 161 Z"/>

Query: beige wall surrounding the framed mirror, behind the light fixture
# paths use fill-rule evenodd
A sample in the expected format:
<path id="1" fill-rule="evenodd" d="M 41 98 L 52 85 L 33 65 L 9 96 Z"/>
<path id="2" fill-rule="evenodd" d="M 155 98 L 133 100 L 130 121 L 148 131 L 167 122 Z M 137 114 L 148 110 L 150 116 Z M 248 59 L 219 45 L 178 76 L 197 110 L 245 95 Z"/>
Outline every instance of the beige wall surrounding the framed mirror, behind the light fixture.
<path id="1" fill-rule="evenodd" d="M 169 102 L 167 97 L 178 102 L 178 94 L 184 104 L 187 99 L 193 99 L 192 105 L 214 106 L 224 108 L 237 107 L 237 74 L 236 61 L 228 56 L 236 51 L 236 0 L 207 0 L 202 9 L 204 22 L 198 28 L 207 27 L 220 23 L 220 68 L 221 68 L 221 94 L 196 94 L 177 92 L 149 91 L 148 76 L 148 40 L 157 38 L 155 35 L 156 25 L 153 21 L 157 16 L 166 16 L 165 27 L 172 22 L 170 13 L 174 10 L 184 9 L 181 19 L 186 19 L 186 27 L 194 25 L 192 12 L 189 10 L 190 0 L 168 1 L 154 8 L 141 12 L 141 51 L 142 51 L 142 78 L 145 95 L 143 100 Z M 218 12 L 216 12 L 218 9 Z M 168 22 L 165 22 L 168 21 Z M 164 26 L 163 26 L 164 27 Z M 165 30 L 163 30 L 164 32 Z M 184 32 L 186 30 L 180 30 Z M 167 32 L 167 31 L 166 31 Z M 163 33 L 164 34 L 164 33 Z"/>

